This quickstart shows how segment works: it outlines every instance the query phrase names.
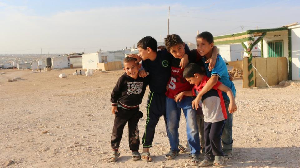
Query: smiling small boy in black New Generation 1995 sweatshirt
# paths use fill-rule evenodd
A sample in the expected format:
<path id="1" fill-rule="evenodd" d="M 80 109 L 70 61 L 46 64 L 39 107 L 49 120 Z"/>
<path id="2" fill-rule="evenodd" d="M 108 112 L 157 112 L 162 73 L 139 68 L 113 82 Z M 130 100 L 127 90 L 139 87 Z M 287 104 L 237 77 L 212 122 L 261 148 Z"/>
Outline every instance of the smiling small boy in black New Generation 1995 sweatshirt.
<path id="1" fill-rule="evenodd" d="M 139 77 L 138 71 L 141 64 L 135 63 L 137 59 L 126 57 L 124 59 L 125 73 L 119 78 L 111 95 L 112 113 L 115 114 L 111 147 L 113 152 L 109 162 L 115 162 L 120 156 L 119 146 L 123 135 L 123 129 L 128 122 L 129 148 L 132 151 L 132 160 L 141 159 L 138 152 L 140 145 L 138 121 L 143 117 L 139 111 L 149 78 Z"/>

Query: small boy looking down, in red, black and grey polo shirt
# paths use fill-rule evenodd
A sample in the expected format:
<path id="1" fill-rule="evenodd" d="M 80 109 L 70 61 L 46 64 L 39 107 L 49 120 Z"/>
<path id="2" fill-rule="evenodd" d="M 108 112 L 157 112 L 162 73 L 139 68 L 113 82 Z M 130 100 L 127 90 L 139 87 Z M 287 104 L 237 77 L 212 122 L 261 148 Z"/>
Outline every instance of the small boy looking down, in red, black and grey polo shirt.
<path id="1" fill-rule="evenodd" d="M 176 102 L 180 102 L 183 96 L 197 96 L 209 80 L 209 77 L 205 75 L 201 67 L 195 63 L 190 63 L 186 66 L 183 71 L 183 77 L 190 84 L 193 84 L 194 87 L 190 91 L 184 91 L 176 95 Z M 227 113 L 222 91 L 224 91 L 230 99 L 229 113 L 233 113 L 237 110 L 231 89 L 219 81 L 200 98 L 204 114 L 205 159 L 199 166 L 213 165 L 216 167 L 221 166 L 224 161 L 221 136 L 225 120 L 227 119 Z"/>

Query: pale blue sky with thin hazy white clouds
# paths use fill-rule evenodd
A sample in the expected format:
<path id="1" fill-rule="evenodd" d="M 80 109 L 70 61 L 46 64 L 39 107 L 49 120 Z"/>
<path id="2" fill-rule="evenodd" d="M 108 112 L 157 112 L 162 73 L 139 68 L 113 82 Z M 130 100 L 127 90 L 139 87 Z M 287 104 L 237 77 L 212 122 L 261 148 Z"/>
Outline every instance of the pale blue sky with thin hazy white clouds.
<path id="1" fill-rule="evenodd" d="M 300 1 L 0 0 L 0 54 L 93 53 L 169 33 L 195 43 L 214 36 L 300 22 Z"/>

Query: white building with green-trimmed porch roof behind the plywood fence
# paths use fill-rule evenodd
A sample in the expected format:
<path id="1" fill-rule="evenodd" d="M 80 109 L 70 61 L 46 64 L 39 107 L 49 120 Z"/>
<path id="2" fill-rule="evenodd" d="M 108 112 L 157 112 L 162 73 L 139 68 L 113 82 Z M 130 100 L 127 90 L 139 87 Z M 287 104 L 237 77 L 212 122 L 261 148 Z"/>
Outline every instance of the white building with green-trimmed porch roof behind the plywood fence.
<path id="1" fill-rule="evenodd" d="M 257 44 L 260 47 L 257 48 L 261 49 L 260 56 L 264 58 L 286 57 L 289 80 L 300 80 L 300 24 L 298 23 L 272 29 L 247 30 L 246 32 L 215 36 L 214 44 L 219 48 L 232 44 L 248 48 L 249 44 L 258 38 L 260 41 Z M 249 51 L 252 52 L 253 57 L 258 52 L 258 50 L 255 51 L 255 46 Z M 221 56 L 223 55 L 221 54 Z M 243 57 L 248 57 L 246 52 Z"/>

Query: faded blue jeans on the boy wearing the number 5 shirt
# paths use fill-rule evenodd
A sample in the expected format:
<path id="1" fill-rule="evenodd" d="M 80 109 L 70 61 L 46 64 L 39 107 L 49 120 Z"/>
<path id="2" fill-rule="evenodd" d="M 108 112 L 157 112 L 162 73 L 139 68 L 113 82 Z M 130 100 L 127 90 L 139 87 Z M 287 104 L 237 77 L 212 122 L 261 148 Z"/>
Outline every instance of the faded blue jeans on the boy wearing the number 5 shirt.
<path id="1" fill-rule="evenodd" d="M 192 109 L 192 97 L 185 97 L 176 103 L 174 99 L 166 99 L 166 116 L 168 123 L 168 138 L 171 150 L 179 151 L 179 121 L 181 109 L 187 123 L 187 142 L 191 148 L 191 154 L 200 154 L 200 138 L 196 121 L 196 111 Z"/>

